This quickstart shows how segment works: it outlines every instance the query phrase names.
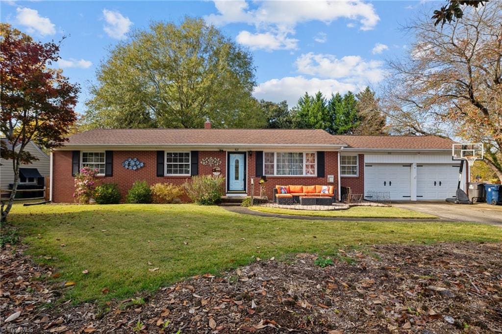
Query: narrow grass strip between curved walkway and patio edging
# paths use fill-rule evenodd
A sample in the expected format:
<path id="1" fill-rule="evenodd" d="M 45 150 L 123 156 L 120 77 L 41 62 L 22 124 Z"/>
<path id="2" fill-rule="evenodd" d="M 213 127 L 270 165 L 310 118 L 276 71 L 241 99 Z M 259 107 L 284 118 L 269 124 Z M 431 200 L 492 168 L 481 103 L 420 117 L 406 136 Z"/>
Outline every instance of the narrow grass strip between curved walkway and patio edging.
<path id="1" fill-rule="evenodd" d="M 352 206 L 346 210 L 295 210 L 267 206 L 252 206 L 250 209 L 260 212 L 277 214 L 292 214 L 317 217 L 346 217 L 346 218 L 437 218 L 435 215 L 402 209 L 393 206 Z"/>

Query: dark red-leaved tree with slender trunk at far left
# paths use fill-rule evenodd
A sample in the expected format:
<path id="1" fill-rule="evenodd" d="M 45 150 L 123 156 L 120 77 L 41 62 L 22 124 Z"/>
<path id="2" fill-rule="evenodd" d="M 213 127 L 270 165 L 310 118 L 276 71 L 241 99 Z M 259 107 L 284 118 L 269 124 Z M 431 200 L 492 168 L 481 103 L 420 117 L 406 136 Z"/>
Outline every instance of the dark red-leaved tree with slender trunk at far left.
<path id="1" fill-rule="evenodd" d="M 59 45 L 38 43 L 31 37 L 0 24 L 0 131 L 2 158 L 12 160 L 14 184 L 7 206 L 1 205 L 2 221 L 12 208 L 19 184 L 19 167 L 36 157 L 26 146 L 51 149 L 66 139 L 76 121 L 74 107 L 78 86 L 69 83 L 60 70 L 50 67 L 59 59 Z"/>

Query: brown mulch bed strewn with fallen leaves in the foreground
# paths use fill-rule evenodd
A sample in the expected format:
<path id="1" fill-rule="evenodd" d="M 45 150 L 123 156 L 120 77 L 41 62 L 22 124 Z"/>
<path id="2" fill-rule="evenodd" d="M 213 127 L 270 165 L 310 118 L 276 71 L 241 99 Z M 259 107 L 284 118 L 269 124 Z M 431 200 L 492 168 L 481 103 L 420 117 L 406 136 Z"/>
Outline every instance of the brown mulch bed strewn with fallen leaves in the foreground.
<path id="1" fill-rule="evenodd" d="M 326 268 L 310 254 L 261 259 L 111 301 L 105 313 L 89 303 L 47 308 L 71 287 L 40 280 L 54 270 L 23 250 L 2 250 L 0 311 L 3 326 L 33 332 L 502 333 L 500 244 L 339 250 Z"/>

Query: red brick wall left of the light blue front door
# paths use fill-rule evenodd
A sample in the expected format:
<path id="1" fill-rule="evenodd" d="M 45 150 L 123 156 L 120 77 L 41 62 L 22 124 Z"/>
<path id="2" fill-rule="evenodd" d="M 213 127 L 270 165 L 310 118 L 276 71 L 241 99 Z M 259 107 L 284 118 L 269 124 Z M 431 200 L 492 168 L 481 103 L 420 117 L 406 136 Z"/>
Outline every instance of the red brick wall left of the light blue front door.
<path id="1" fill-rule="evenodd" d="M 54 159 L 54 181 L 52 198 L 54 202 L 74 202 L 73 192 L 75 191 L 74 177 L 71 175 L 71 151 L 55 151 Z M 221 160 L 221 175 L 225 176 L 226 159 L 225 152 L 219 151 L 199 151 L 199 175 L 212 174 L 212 166 L 205 166 L 200 161 L 206 157 L 215 157 Z M 122 162 L 127 158 L 138 158 L 145 163 L 145 167 L 136 171 L 122 167 Z M 122 199 L 127 195 L 128 190 L 134 181 L 147 181 L 152 185 L 155 183 L 183 184 L 188 176 L 164 176 L 157 177 L 157 152 L 156 151 L 113 151 L 113 176 L 100 176 L 100 182 L 116 183 L 120 189 Z M 181 198 L 189 201 L 187 196 Z"/>

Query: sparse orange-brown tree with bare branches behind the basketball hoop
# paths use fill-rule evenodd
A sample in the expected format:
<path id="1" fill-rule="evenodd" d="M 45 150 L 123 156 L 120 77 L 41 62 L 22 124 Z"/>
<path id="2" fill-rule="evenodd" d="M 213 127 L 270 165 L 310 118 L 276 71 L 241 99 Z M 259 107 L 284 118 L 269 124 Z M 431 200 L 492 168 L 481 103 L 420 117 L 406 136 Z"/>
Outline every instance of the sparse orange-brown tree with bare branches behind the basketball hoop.
<path id="1" fill-rule="evenodd" d="M 428 16 L 408 27 L 415 43 L 391 61 L 385 97 L 393 129 L 482 142 L 485 162 L 502 180 L 502 2 L 466 8 L 442 28 Z"/>

